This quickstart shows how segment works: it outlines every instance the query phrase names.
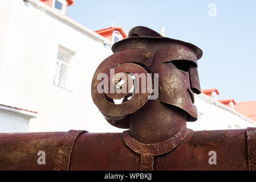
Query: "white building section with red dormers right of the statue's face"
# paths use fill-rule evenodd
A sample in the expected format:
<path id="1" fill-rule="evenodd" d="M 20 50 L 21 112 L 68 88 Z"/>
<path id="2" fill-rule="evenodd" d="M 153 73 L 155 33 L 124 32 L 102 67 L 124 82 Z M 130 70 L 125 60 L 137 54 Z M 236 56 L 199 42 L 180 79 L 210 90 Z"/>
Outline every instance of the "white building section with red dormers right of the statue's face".
<path id="1" fill-rule="evenodd" d="M 229 130 L 246 129 L 246 127 L 255 127 L 256 122 L 253 119 L 234 110 L 234 107 L 222 104 L 217 100 L 217 89 L 212 94 L 202 90 L 202 93 L 195 95 L 195 105 L 198 110 L 198 120 L 188 122 L 187 127 L 193 130 Z"/>

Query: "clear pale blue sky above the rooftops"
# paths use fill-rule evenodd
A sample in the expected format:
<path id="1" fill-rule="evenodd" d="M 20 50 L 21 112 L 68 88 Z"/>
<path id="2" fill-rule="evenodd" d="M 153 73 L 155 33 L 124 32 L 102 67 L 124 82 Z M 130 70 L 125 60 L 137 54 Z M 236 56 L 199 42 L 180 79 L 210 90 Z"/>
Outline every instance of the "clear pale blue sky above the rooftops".
<path id="1" fill-rule="evenodd" d="M 210 17 L 209 3 L 217 16 Z M 147 26 L 169 38 L 203 50 L 198 61 L 201 88 L 217 88 L 218 98 L 256 100 L 256 1 L 84 1 L 75 0 L 67 15 L 91 30 L 114 26 L 128 31 Z"/>

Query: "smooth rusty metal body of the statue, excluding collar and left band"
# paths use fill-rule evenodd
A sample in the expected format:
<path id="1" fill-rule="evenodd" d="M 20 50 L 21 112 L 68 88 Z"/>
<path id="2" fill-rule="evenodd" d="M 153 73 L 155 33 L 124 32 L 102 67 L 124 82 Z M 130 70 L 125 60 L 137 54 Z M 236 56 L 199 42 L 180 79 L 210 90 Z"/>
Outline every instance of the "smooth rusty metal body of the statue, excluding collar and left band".
<path id="1" fill-rule="evenodd" d="M 251 133 L 251 129 L 250 129 Z M 0 170 L 54 170 L 59 143 L 65 133 L 0 134 Z M 255 129 L 189 131 L 176 148 L 155 156 L 154 170 L 249 170 L 249 152 L 255 154 Z M 39 165 L 38 151 L 46 152 L 46 164 Z M 217 164 L 210 165 L 209 151 L 217 152 Z M 254 151 L 254 152 L 253 152 Z M 255 170 L 255 156 L 249 155 Z M 72 147 L 69 170 L 139 170 L 140 155 L 129 148 L 121 133 L 82 133 Z M 62 168 L 63 169 L 63 168 Z"/>

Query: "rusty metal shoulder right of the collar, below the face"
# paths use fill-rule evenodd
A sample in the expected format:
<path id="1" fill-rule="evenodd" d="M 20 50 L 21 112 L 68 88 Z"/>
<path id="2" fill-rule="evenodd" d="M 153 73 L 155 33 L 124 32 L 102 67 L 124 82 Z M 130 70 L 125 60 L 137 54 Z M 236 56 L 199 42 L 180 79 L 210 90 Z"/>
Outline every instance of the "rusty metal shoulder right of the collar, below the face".
<path id="1" fill-rule="evenodd" d="M 182 154 L 183 166 L 193 170 L 248 170 L 256 154 L 256 129 L 190 131 L 184 142 L 170 153 Z M 254 142 L 253 142 L 254 141 Z M 251 152 L 250 152 L 251 151 Z M 250 154 L 251 153 L 251 154 Z M 216 164 L 209 162 L 216 157 Z M 251 161 L 250 161 L 251 160 Z M 178 163 L 178 162 L 177 162 Z"/>

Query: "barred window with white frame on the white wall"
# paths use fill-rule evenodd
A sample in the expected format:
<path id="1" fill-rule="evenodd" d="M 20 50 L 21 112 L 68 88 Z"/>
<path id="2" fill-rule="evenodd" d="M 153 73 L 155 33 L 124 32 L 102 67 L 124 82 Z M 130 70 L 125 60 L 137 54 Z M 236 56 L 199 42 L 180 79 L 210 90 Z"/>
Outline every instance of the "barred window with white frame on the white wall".
<path id="1" fill-rule="evenodd" d="M 59 46 L 54 75 L 54 85 L 59 88 L 72 90 L 72 57 L 75 52 L 63 46 Z"/>

